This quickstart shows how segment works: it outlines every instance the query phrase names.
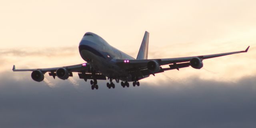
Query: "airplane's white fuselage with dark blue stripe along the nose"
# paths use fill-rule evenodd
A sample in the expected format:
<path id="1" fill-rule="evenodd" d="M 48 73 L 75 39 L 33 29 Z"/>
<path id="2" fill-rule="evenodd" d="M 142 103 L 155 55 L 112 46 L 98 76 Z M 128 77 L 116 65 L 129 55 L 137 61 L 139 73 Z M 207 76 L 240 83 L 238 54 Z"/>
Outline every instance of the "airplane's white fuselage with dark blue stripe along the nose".
<path id="1" fill-rule="evenodd" d="M 116 65 L 115 60 L 134 60 L 134 58 L 110 46 L 100 36 L 91 32 L 84 34 L 79 44 L 79 52 L 81 57 L 90 63 L 94 70 L 108 78 L 132 81 L 129 72 Z"/>

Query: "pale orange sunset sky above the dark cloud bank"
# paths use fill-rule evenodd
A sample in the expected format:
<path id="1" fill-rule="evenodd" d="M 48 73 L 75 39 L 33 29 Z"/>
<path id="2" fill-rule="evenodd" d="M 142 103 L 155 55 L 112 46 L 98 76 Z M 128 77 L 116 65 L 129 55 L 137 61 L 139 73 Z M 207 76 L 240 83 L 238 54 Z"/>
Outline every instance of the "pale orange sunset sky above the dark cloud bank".
<path id="1" fill-rule="evenodd" d="M 145 30 L 150 32 L 148 58 L 250 49 L 204 60 L 201 70 L 170 70 L 143 82 L 190 77 L 236 81 L 256 74 L 255 0 L 5 0 L 0 17 L 1 75 L 12 72 L 13 64 L 48 68 L 83 63 L 78 44 L 85 32 L 136 57 Z M 30 79 L 30 72 L 22 74 Z M 19 72 L 13 75 L 20 77 Z"/>

